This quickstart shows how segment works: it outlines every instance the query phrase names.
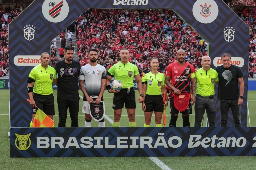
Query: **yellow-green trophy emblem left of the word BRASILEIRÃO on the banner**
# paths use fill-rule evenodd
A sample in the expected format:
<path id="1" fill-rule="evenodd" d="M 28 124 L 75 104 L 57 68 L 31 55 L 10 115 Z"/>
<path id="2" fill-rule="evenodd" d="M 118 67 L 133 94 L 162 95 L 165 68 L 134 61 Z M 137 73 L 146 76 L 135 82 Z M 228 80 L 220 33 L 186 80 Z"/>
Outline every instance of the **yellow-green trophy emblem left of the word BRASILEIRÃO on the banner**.
<path id="1" fill-rule="evenodd" d="M 30 147 L 30 145 L 31 145 L 31 140 L 29 138 L 31 133 L 29 133 L 27 135 L 19 135 L 19 134 L 15 133 L 15 135 L 17 137 L 15 139 L 15 146 L 16 146 L 16 148 L 21 150 L 21 151 L 27 150 Z"/>

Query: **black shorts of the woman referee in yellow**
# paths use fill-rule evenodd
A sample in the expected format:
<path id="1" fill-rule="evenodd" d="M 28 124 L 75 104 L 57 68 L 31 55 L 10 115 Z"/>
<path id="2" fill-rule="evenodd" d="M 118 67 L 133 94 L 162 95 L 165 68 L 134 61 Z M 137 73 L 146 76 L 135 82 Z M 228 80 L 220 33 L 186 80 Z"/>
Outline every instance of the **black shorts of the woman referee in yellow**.
<path id="1" fill-rule="evenodd" d="M 163 112 L 164 101 L 162 95 L 146 95 L 145 96 L 145 112 Z"/>

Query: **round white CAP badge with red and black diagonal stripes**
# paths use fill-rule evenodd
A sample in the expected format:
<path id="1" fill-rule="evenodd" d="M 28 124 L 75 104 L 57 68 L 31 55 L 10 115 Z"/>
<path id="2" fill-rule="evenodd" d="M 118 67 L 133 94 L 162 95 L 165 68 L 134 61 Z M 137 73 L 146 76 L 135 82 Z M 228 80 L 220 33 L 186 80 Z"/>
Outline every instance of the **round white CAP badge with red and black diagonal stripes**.
<path id="1" fill-rule="evenodd" d="M 67 18 L 69 6 L 66 0 L 45 0 L 42 13 L 50 22 L 61 22 Z"/>

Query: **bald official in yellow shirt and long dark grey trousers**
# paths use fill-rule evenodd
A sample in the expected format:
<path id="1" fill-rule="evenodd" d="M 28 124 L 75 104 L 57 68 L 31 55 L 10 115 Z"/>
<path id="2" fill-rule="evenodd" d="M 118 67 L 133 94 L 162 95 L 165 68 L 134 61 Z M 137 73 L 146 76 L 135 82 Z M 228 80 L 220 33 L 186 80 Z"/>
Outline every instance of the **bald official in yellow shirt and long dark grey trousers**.
<path id="1" fill-rule="evenodd" d="M 219 84 L 217 71 L 210 68 L 211 58 L 202 57 L 203 67 L 195 73 L 196 80 L 196 103 L 195 103 L 195 125 L 201 127 L 203 115 L 207 113 L 209 127 L 215 127 L 216 103 L 214 99 L 214 83 Z"/>

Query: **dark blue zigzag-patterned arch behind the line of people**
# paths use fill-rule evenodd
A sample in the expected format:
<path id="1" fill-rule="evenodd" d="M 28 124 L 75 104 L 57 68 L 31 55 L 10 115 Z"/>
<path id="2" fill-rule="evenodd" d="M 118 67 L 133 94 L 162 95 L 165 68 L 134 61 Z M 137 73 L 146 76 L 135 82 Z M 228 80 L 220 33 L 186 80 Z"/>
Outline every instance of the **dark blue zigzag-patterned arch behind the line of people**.
<path id="1" fill-rule="evenodd" d="M 65 0 L 64 0 L 65 1 Z M 16 66 L 14 57 L 17 55 L 40 55 L 44 51 L 50 52 L 50 42 L 62 30 L 70 25 L 88 8 L 129 8 L 129 9 L 174 9 L 185 21 L 187 21 L 209 43 L 210 57 L 220 57 L 222 53 L 230 53 L 232 57 L 243 57 L 244 66 L 244 100 L 241 106 L 242 126 L 247 125 L 247 88 L 248 88 L 248 53 L 249 53 L 249 27 L 246 25 L 222 0 L 216 0 L 219 13 L 215 21 L 209 24 L 198 22 L 192 12 L 196 0 L 148 0 L 146 6 L 113 5 L 114 0 L 67 0 L 69 14 L 59 23 L 52 23 L 42 14 L 44 0 L 35 0 L 14 21 L 9 24 L 9 48 L 10 48 L 10 117 L 11 127 L 29 127 L 31 121 L 31 106 L 26 101 L 27 77 L 33 67 Z M 202 4 L 205 3 L 202 1 Z M 35 38 L 27 41 L 24 38 L 26 25 L 36 27 Z M 224 39 L 223 28 L 236 29 L 235 38 L 228 43 Z M 214 68 L 214 66 L 212 65 Z M 217 92 L 217 91 L 216 91 Z M 217 99 L 216 99 L 217 101 Z M 217 101 L 216 125 L 220 126 L 220 109 Z M 233 126 L 231 111 L 228 126 Z M 132 152 L 132 151 L 131 151 Z"/>

